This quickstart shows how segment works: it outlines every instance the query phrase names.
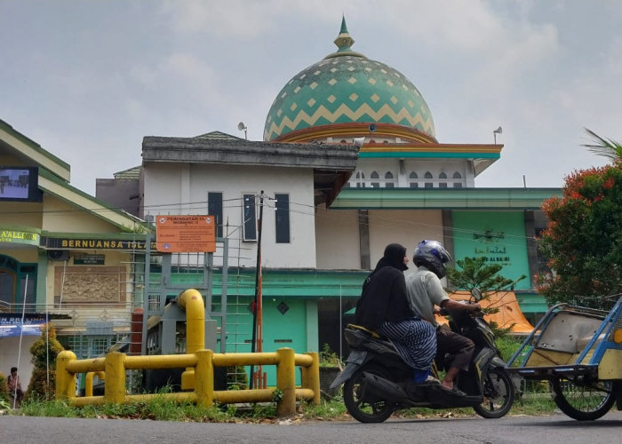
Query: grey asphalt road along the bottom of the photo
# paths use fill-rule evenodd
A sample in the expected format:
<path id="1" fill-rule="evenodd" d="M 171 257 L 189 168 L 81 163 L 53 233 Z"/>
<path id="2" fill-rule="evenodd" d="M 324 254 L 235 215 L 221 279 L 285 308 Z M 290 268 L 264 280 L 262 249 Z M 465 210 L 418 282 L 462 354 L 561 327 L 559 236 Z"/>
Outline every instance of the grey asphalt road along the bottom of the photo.
<path id="1" fill-rule="evenodd" d="M 311 421 L 300 424 L 200 424 L 124 419 L 0 416 L 0 442 L 11 444 L 115 443 L 392 443 L 569 444 L 620 442 L 622 412 L 594 422 L 562 414 L 389 420 L 383 424 Z"/>

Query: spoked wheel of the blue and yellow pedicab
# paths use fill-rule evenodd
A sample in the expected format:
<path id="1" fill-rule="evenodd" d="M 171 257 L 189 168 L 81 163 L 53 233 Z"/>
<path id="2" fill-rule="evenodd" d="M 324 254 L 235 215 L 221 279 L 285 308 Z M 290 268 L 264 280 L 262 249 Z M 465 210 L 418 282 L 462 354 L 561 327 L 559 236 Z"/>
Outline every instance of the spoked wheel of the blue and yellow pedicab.
<path id="1" fill-rule="evenodd" d="M 610 411 L 616 400 L 610 381 L 578 378 L 551 380 L 553 400 L 563 413 L 577 421 L 594 421 Z"/>

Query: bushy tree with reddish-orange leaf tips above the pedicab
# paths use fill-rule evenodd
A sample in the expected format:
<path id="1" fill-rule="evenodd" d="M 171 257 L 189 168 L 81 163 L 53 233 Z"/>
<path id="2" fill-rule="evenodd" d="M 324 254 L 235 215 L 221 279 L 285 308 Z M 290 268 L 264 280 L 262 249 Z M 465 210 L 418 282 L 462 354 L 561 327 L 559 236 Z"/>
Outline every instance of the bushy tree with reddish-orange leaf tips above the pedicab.
<path id="1" fill-rule="evenodd" d="M 538 275 L 538 292 L 549 305 L 609 308 L 605 297 L 622 293 L 622 160 L 573 172 L 542 210 L 550 272 Z"/>

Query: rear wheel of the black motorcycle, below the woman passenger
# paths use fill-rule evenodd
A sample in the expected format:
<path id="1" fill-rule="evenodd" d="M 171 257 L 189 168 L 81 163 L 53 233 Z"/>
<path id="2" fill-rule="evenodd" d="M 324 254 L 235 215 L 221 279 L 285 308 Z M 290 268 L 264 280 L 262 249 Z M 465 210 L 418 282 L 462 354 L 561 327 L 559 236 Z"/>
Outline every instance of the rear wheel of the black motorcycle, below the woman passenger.
<path id="1" fill-rule="evenodd" d="M 363 372 L 390 379 L 387 369 L 381 367 L 364 366 L 359 369 L 343 387 L 343 400 L 347 413 L 361 423 L 382 423 L 391 416 L 394 408 L 386 400 L 364 396 L 361 386 Z"/>

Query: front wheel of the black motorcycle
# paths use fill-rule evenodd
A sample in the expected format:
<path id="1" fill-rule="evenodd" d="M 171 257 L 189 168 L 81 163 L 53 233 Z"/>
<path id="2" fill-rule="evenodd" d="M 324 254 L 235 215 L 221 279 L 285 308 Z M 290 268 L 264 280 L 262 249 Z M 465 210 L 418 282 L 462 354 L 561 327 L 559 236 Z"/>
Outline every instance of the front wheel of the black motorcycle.
<path id="1" fill-rule="evenodd" d="M 514 404 L 514 384 L 505 369 L 490 369 L 483 381 L 483 402 L 474 406 L 477 415 L 496 419 Z"/>

